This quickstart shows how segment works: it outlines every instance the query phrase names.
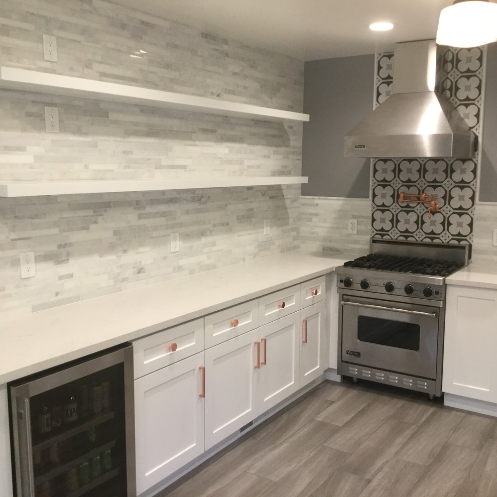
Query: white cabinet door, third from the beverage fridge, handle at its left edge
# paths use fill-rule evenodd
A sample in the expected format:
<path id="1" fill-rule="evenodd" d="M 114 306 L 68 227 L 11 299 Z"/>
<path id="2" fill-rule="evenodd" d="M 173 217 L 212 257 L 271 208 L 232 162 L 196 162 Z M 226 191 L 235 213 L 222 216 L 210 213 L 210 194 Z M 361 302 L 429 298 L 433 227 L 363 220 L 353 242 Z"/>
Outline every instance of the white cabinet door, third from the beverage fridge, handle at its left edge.
<path id="1" fill-rule="evenodd" d="M 299 331 L 298 312 L 259 328 L 259 413 L 285 400 L 299 388 Z"/>

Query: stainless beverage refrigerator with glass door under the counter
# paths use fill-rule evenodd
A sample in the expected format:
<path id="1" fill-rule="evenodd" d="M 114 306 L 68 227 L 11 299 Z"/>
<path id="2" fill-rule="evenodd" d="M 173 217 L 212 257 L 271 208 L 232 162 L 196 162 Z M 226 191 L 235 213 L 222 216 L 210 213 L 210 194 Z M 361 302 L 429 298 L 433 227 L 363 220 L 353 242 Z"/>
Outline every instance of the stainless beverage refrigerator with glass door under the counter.
<path id="1" fill-rule="evenodd" d="M 9 385 L 16 497 L 136 497 L 133 348 Z"/>

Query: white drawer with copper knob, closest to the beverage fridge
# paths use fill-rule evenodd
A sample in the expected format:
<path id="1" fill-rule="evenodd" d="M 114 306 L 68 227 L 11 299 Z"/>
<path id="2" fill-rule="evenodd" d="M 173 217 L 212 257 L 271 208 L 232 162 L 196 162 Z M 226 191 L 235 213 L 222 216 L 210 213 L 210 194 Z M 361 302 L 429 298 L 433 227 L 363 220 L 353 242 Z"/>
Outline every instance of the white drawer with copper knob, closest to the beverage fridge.
<path id="1" fill-rule="evenodd" d="M 204 349 L 204 319 L 196 319 L 133 342 L 135 378 Z"/>

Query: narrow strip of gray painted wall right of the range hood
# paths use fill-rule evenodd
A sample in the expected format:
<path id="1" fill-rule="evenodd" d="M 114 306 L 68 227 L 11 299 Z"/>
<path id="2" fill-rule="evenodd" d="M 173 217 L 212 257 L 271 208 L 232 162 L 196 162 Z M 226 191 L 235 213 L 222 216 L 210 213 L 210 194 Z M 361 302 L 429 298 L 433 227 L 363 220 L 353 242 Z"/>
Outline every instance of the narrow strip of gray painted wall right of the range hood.
<path id="1" fill-rule="evenodd" d="M 483 141 L 481 144 L 480 195 L 497 202 L 497 44 L 488 45 L 486 59 Z"/>

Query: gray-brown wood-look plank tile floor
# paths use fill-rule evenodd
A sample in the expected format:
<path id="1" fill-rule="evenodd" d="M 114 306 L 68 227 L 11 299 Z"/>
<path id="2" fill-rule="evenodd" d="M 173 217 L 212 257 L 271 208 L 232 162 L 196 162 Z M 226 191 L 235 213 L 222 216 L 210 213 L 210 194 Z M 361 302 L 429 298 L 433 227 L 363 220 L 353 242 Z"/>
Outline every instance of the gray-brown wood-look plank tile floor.
<path id="1" fill-rule="evenodd" d="M 497 497 L 497 419 L 325 382 L 160 497 Z"/>

